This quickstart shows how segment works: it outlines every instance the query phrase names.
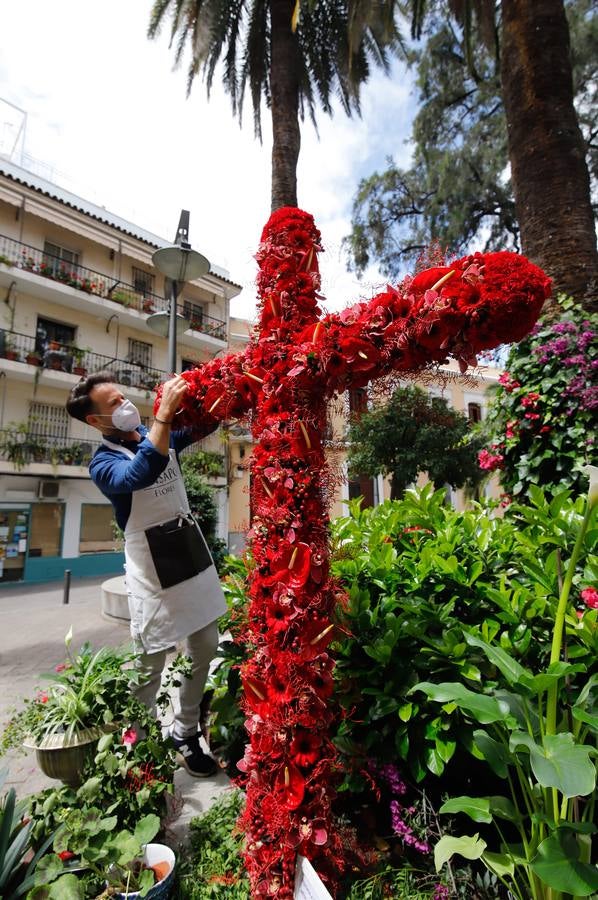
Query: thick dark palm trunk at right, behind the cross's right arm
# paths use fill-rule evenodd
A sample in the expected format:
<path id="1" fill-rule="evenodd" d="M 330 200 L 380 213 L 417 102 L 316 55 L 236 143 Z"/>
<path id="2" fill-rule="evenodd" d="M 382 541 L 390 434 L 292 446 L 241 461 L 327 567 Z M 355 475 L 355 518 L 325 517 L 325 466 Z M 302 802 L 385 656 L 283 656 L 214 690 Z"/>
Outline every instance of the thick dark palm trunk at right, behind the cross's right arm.
<path id="1" fill-rule="evenodd" d="M 591 305 L 598 251 L 584 141 L 573 106 L 562 0 L 501 0 L 502 95 L 523 251 Z"/>

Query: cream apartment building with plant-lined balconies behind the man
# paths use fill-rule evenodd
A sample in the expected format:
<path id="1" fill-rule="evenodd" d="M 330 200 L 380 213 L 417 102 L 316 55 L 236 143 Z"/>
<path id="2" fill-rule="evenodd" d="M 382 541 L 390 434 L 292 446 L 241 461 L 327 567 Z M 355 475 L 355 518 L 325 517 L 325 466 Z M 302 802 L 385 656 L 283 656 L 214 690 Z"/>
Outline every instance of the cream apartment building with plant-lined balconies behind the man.
<path id="1" fill-rule="evenodd" d="M 149 422 L 168 377 L 167 340 L 148 326 L 169 306 L 152 254 L 169 243 L 0 159 L 0 585 L 122 571 L 112 507 L 87 471 L 98 434 L 64 404 L 82 375 L 110 369 Z M 228 348 L 240 290 L 214 265 L 186 285 L 178 371 Z M 203 445 L 223 452 L 217 435 Z"/>

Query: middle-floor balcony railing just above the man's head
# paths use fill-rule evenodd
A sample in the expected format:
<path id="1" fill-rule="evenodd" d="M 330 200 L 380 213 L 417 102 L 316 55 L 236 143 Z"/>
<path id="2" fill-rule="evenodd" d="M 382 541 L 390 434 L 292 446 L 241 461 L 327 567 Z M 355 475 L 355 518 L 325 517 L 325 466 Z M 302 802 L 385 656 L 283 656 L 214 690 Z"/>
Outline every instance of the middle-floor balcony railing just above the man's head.
<path id="1" fill-rule="evenodd" d="M 42 369 L 69 372 L 80 377 L 88 372 L 107 369 L 114 373 L 118 384 L 141 390 L 151 390 L 168 377 L 168 373 L 162 369 L 143 366 L 128 359 L 105 356 L 73 344 L 45 341 L 34 335 L 20 334 L 18 331 L 7 329 L 0 329 L 0 357 Z"/>

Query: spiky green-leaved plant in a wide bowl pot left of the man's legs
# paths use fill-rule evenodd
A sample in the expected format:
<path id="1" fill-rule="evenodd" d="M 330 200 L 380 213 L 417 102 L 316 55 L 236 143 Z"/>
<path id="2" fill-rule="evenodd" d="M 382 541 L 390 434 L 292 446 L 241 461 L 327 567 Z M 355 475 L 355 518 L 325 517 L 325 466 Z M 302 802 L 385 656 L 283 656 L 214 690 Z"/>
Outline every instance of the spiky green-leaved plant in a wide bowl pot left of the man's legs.
<path id="1" fill-rule="evenodd" d="M 9 723 L 3 745 L 34 749 L 46 775 L 76 786 L 93 747 L 102 734 L 116 727 L 131 686 L 141 676 L 132 667 L 135 653 L 131 649 L 94 651 L 85 643 L 75 654 L 71 641 L 69 632 L 65 662 L 45 676 L 47 688 L 26 701 Z"/>

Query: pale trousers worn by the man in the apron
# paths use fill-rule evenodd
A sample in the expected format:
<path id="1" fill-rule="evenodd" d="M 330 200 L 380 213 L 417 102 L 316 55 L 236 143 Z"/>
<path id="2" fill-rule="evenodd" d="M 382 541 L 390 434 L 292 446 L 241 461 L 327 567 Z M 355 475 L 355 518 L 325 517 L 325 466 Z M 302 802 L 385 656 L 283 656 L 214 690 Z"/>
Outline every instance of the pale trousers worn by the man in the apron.
<path id="1" fill-rule="evenodd" d="M 166 662 L 166 650 L 158 653 L 144 653 L 140 645 L 141 657 L 138 661 L 139 670 L 148 677 L 148 681 L 141 685 L 136 694 L 142 703 L 155 713 L 156 696 L 160 689 L 160 681 L 164 664 Z M 174 719 L 173 736 L 176 738 L 193 737 L 198 731 L 199 704 L 203 697 L 204 688 L 210 663 L 218 649 L 218 623 L 210 622 L 205 628 L 195 631 L 182 642 L 182 650 L 191 657 L 191 678 L 181 677 L 179 688 L 180 712 Z"/>

